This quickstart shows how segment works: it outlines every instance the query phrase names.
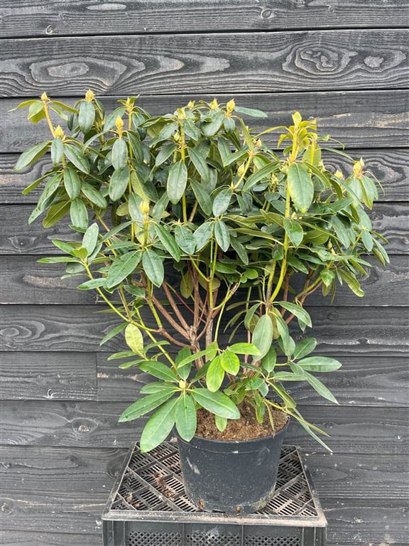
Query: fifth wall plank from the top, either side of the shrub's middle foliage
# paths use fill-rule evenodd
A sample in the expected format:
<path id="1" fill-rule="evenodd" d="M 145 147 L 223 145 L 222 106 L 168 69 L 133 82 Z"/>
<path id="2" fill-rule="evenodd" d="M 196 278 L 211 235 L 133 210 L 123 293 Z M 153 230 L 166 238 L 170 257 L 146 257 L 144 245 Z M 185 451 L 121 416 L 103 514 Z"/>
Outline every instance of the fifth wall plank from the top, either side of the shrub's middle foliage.
<path id="1" fill-rule="evenodd" d="M 28 225 L 32 210 L 33 205 L 25 203 L 0 205 L 0 255 L 58 254 L 58 249 L 51 241 L 72 240 L 69 220 L 47 230 L 40 220 Z M 387 237 L 389 254 L 409 252 L 408 208 L 405 203 L 375 203 L 369 216 L 373 221 L 373 229 Z"/>

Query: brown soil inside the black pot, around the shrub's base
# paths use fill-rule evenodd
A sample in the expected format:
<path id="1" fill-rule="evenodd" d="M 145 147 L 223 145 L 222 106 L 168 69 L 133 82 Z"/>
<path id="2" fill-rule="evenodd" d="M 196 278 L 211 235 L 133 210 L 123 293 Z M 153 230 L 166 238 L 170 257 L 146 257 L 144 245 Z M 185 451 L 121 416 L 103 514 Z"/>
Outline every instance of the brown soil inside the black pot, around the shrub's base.
<path id="1" fill-rule="evenodd" d="M 258 423 L 253 407 L 250 405 L 241 405 L 239 408 L 241 419 L 231 419 L 227 422 L 227 427 L 223 432 L 217 429 L 214 424 L 214 415 L 207 410 L 197 412 L 197 436 L 202 438 L 212 438 L 215 440 L 250 440 L 254 438 L 263 438 L 270 436 L 274 432 L 282 429 L 288 421 L 288 416 L 278 410 L 272 410 L 274 430 L 271 428 L 270 421 L 266 414 L 263 423 Z"/>

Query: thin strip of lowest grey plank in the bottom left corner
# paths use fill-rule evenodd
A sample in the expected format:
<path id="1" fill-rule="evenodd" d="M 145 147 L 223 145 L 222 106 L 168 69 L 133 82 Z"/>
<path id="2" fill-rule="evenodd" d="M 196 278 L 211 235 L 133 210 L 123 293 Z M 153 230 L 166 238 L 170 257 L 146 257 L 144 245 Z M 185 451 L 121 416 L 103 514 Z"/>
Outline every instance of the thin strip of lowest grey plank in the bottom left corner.
<path id="1" fill-rule="evenodd" d="M 21 527 L 26 528 L 27 525 L 23 522 Z M 55 529 L 50 532 L 0 530 L 0 543 L 2 546 L 101 546 L 102 533 L 80 535 L 77 532 L 56 532 Z"/>

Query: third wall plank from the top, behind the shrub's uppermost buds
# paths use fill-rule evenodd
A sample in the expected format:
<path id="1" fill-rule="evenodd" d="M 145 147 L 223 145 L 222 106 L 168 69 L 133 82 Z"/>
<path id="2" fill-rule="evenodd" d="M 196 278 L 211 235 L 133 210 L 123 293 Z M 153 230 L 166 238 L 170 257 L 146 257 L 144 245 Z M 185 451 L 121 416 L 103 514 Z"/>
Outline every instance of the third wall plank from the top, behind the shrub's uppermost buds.
<path id="1" fill-rule="evenodd" d="M 87 82 L 87 87 L 92 81 Z M 81 90 L 81 95 L 86 89 Z M 256 107 L 268 114 L 267 119 L 250 119 L 253 127 L 276 127 L 291 124 L 291 113 L 299 110 L 303 117 L 317 118 L 320 134 L 330 134 L 336 141 L 330 143 L 339 146 L 337 140 L 348 148 L 396 148 L 408 146 L 408 109 L 409 96 L 405 90 L 366 90 L 347 92 L 298 92 L 271 94 L 259 93 L 258 85 L 247 93 L 237 96 L 240 106 Z M 131 91 L 133 95 L 136 90 Z M 125 90 L 119 90 L 126 96 Z M 184 90 L 185 93 L 185 90 Z M 227 102 L 233 94 L 225 90 L 216 92 L 219 102 Z M 138 104 L 152 115 L 173 112 L 186 105 L 189 100 L 212 100 L 214 95 L 205 95 L 203 90 L 183 95 L 141 96 Z M 55 100 L 65 100 L 58 92 L 52 96 Z M 114 108 L 117 98 L 100 97 L 107 109 Z M 29 124 L 26 112 L 9 110 L 19 104 L 15 98 L 0 101 L 0 152 L 19 152 L 33 146 L 38 141 L 50 138 L 47 124 Z M 69 101 L 70 102 L 70 101 Z M 71 101 L 72 102 L 72 101 Z M 266 141 L 275 146 L 277 135 L 266 135 Z"/>

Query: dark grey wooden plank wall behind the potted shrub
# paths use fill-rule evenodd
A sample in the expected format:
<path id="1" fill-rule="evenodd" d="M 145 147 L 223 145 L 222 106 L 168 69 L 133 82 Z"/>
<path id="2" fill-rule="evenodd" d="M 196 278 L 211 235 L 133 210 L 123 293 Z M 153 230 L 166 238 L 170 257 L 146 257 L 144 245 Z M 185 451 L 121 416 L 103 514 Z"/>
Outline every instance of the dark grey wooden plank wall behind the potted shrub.
<path id="1" fill-rule="evenodd" d="M 329 522 L 329 546 L 408 545 L 408 4 L 405 0 L 2 0 L 0 78 L 1 544 L 97 546 L 114 475 L 140 424 L 117 424 L 137 396 L 99 348 L 109 315 L 61 269 L 38 264 L 65 228 L 28 227 L 45 168 L 16 174 L 45 127 L 8 110 L 46 91 L 75 100 L 91 87 L 114 104 L 141 94 L 165 112 L 191 98 L 234 97 L 272 124 L 299 109 L 381 179 L 372 212 L 391 264 L 310 311 L 340 407 L 300 390 L 331 434 L 323 452 L 297 427 Z M 342 159 L 337 159 L 342 167 Z"/>

